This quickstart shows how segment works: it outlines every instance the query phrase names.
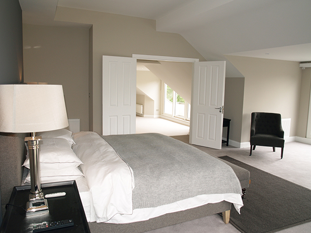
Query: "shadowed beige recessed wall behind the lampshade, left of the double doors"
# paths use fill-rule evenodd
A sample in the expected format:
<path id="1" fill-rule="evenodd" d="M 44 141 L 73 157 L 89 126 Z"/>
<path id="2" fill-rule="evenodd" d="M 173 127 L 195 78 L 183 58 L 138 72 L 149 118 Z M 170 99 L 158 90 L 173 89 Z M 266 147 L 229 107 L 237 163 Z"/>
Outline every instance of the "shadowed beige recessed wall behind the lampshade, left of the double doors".
<path id="1" fill-rule="evenodd" d="M 68 118 L 88 131 L 88 29 L 24 24 L 23 45 L 24 82 L 63 85 Z"/>

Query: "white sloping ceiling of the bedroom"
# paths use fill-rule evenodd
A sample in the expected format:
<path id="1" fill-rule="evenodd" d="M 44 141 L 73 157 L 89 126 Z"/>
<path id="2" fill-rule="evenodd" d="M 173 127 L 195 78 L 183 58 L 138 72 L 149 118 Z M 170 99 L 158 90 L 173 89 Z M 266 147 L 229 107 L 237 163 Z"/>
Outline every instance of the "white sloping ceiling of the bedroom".
<path id="1" fill-rule="evenodd" d="M 181 34 L 207 61 L 225 55 L 311 61 L 311 0 L 19 0 L 23 22 L 55 22 L 57 6 L 156 20 Z M 230 63 L 227 72 L 241 77 Z"/>

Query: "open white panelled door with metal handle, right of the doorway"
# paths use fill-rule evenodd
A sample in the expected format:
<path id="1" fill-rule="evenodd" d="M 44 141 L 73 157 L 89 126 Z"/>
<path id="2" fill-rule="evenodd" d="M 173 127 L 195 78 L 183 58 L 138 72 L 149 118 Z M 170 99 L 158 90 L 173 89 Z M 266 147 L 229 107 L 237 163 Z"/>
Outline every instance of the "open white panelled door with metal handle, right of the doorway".
<path id="1" fill-rule="evenodd" d="M 195 62 L 190 144 L 222 148 L 224 95 L 225 61 Z"/>

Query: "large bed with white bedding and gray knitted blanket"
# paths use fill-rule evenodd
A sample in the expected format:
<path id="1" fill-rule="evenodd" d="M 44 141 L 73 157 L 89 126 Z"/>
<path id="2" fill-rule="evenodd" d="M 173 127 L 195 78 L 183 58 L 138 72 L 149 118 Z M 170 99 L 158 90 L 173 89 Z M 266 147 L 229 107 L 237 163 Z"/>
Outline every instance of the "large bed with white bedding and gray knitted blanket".
<path id="1" fill-rule="evenodd" d="M 171 137 L 71 135 L 65 129 L 38 135 L 41 183 L 76 180 L 92 232 L 145 232 L 217 213 L 227 223 L 231 203 L 234 211 L 243 205 L 248 171 Z M 22 165 L 29 166 L 27 159 Z M 24 172 L 22 183 L 27 182 Z"/>

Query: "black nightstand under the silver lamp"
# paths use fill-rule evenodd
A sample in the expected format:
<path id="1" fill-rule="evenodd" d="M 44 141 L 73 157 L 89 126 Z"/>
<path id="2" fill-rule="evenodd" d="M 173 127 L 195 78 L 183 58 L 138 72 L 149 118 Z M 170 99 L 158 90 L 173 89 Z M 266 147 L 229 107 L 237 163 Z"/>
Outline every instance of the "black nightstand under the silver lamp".
<path id="1" fill-rule="evenodd" d="M 21 208 L 8 205 L 0 233 L 32 233 L 33 225 L 44 221 L 54 222 L 73 219 L 74 226 L 46 231 L 47 233 L 90 233 L 82 202 L 75 181 L 44 183 L 41 185 L 44 195 L 66 192 L 66 196 L 49 198 L 48 214 L 25 216 Z M 13 188 L 9 203 L 25 209 L 30 194 L 30 185 Z"/>

